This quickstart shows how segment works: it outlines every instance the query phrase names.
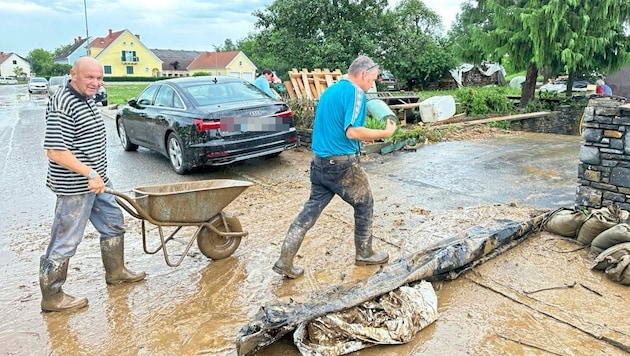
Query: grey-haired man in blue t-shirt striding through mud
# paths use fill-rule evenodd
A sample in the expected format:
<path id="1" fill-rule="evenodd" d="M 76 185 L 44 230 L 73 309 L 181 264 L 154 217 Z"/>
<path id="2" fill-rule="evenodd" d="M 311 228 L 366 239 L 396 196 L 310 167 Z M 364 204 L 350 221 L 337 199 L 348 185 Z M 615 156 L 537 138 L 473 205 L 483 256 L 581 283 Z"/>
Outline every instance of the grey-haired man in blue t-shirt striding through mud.
<path id="1" fill-rule="evenodd" d="M 372 215 L 374 199 L 368 177 L 359 165 L 362 141 L 390 137 L 396 124 L 387 120 L 385 129 L 365 127 L 365 92 L 374 85 L 378 65 L 359 56 L 348 68 L 348 77 L 324 91 L 317 104 L 313 127 L 311 194 L 302 211 L 293 220 L 273 270 L 288 278 L 299 278 L 304 269 L 293 265 L 306 232 L 338 195 L 354 208 L 354 245 L 356 265 L 383 264 L 386 252 L 372 250 Z"/>

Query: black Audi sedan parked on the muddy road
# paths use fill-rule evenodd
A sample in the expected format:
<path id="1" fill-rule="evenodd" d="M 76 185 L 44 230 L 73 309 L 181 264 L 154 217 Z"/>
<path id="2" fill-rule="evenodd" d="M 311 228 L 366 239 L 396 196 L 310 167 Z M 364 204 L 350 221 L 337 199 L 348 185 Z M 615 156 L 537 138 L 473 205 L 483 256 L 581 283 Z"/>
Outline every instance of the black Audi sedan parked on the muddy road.
<path id="1" fill-rule="evenodd" d="M 119 108 L 116 126 L 125 151 L 159 152 L 179 174 L 298 146 L 287 104 L 232 77 L 156 81 Z"/>

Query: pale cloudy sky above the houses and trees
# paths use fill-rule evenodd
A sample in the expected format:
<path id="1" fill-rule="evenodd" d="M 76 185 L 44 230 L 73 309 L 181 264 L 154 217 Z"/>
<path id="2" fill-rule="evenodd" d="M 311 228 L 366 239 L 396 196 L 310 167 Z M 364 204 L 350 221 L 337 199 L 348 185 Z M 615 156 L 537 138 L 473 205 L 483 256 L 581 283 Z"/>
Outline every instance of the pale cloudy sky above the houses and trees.
<path id="1" fill-rule="evenodd" d="M 316 0 L 315 0 L 316 1 Z M 390 3 L 397 3 L 390 0 Z M 455 19 L 462 0 L 425 0 Z M 36 48 L 54 51 L 81 36 L 104 37 L 127 29 L 149 48 L 213 51 L 255 31 L 252 12 L 272 0 L 0 0 L 0 51 L 22 57 Z M 87 4 L 87 31 L 85 7 Z"/>

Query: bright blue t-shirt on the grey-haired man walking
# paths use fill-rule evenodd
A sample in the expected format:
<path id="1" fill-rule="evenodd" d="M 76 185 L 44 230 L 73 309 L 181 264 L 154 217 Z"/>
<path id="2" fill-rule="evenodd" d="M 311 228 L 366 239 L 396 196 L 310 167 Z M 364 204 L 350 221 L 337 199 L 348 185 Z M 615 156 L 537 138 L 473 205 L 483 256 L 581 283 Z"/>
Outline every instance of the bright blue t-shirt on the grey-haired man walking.
<path id="1" fill-rule="evenodd" d="M 359 153 L 361 141 L 346 136 L 346 129 L 365 126 L 363 89 L 347 79 L 324 90 L 315 111 L 311 149 L 320 157 Z"/>

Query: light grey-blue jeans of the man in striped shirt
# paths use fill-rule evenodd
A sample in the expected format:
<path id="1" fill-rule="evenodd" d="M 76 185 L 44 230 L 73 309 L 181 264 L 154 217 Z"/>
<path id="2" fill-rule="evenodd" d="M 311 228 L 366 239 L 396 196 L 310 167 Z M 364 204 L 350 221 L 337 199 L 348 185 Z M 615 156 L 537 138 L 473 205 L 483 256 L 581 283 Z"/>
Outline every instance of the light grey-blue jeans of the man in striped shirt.
<path id="1" fill-rule="evenodd" d="M 101 234 L 101 240 L 125 232 L 123 213 L 113 195 L 57 195 L 50 243 L 45 257 L 64 259 L 74 256 L 83 239 L 88 220 Z"/>

